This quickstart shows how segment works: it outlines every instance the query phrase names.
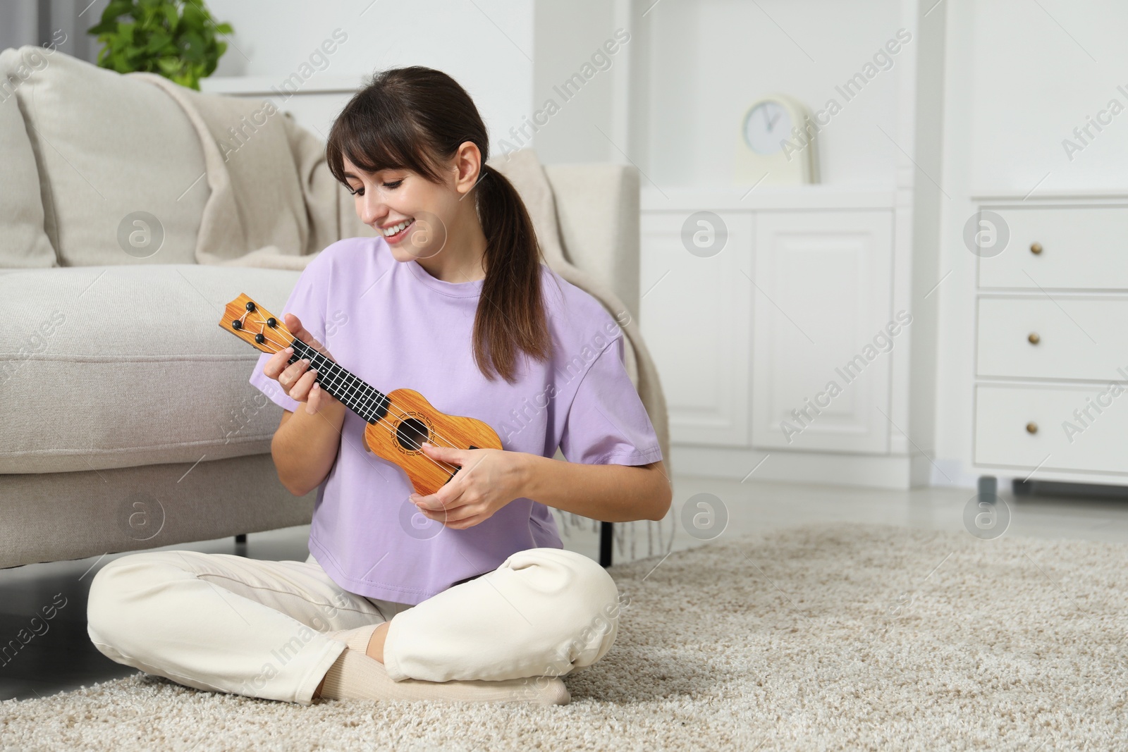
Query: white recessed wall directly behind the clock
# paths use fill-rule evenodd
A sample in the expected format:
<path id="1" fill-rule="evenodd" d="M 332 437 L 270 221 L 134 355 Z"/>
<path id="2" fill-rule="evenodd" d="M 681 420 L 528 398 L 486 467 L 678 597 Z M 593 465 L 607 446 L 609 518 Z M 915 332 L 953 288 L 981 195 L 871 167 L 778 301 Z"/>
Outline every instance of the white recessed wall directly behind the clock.
<path id="1" fill-rule="evenodd" d="M 895 0 L 661 0 L 647 14 L 651 177 L 730 185 L 742 115 L 779 91 L 812 112 L 843 105 L 819 133 L 823 183 L 892 187 L 897 147 L 878 129 L 896 121 L 891 70 L 851 101 L 835 87 L 896 35 L 899 12 Z"/>

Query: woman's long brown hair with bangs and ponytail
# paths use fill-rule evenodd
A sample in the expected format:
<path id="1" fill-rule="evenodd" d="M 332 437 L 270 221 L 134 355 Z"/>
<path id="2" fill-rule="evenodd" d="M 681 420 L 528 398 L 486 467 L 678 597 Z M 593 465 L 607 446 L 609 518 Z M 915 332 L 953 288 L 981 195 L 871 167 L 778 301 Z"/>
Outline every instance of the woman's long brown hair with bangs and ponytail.
<path id="1" fill-rule="evenodd" d="M 367 172 L 411 169 L 441 183 L 444 162 L 467 141 L 482 152 L 473 188 L 486 237 L 486 276 L 474 317 L 474 360 L 517 378 L 517 351 L 537 360 L 552 352 L 540 291 L 543 258 L 529 212 L 505 176 L 486 165 L 490 139 L 474 100 L 455 79 L 421 65 L 376 74 L 333 123 L 325 147 L 329 171 L 349 185 L 344 158 Z"/>

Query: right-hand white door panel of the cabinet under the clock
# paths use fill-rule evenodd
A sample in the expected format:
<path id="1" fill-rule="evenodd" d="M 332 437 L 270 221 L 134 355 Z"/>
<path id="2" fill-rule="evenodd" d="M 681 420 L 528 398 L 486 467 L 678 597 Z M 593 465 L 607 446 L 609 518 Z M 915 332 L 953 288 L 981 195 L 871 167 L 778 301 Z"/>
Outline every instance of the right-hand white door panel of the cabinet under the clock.
<path id="1" fill-rule="evenodd" d="M 754 255 L 752 444 L 888 452 L 892 213 L 758 213 Z"/>

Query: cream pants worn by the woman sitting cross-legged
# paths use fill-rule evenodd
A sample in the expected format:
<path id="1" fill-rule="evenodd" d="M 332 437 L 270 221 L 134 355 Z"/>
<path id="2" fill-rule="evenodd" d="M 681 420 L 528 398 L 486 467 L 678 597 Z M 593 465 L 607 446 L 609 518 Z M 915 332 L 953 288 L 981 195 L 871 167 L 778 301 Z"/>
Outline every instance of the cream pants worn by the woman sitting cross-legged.
<path id="1" fill-rule="evenodd" d="M 558 548 L 513 554 L 416 605 L 350 593 L 312 556 L 152 551 L 98 572 L 87 630 L 106 656 L 146 673 L 309 704 L 345 649 L 326 631 L 390 620 L 384 658 L 396 681 L 503 680 L 591 665 L 615 642 L 618 616 L 611 576 Z"/>

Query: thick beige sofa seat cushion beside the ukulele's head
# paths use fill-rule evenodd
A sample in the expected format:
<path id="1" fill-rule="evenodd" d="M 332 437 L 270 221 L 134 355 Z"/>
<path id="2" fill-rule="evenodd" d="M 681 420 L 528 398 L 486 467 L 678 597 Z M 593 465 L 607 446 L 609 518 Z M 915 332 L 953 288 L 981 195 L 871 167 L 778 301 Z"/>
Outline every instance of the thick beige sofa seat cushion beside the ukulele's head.
<path id="1" fill-rule="evenodd" d="M 247 293 L 279 311 L 298 272 L 183 265 L 0 273 L 0 472 L 100 470 L 270 452 L 282 409 L 224 333 Z"/>

